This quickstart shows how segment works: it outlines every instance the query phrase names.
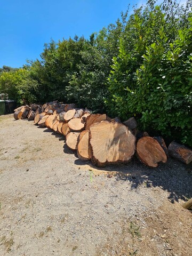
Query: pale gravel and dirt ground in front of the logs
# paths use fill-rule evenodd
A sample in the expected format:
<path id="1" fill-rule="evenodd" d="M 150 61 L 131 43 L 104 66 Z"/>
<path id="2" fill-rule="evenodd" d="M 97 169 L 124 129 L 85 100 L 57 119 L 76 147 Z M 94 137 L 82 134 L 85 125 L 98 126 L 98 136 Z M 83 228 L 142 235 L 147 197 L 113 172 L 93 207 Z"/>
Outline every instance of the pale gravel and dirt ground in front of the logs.
<path id="1" fill-rule="evenodd" d="M 95 169 L 12 115 L 0 138 L 0 255 L 191 255 L 190 166 Z"/>

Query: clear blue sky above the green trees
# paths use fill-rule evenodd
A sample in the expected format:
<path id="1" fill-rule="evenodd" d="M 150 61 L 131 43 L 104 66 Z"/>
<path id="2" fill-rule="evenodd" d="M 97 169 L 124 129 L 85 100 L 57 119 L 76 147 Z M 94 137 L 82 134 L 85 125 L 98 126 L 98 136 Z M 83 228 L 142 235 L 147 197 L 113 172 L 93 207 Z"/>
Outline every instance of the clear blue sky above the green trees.
<path id="1" fill-rule="evenodd" d="M 89 38 L 114 23 L 133 0 L 0 0 L 0 67 L 35 60 L 50 39 Z"/>

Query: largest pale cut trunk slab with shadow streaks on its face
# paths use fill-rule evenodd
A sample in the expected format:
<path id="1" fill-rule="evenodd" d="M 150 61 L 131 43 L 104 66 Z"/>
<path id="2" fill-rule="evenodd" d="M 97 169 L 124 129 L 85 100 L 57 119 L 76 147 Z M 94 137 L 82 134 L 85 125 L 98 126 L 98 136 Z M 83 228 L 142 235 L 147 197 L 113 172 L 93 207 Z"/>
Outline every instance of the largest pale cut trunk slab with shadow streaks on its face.
<path id="1" fill-rule="evenodd" d="M 90 126 L 92 162 L 98 166 L 129 162 L 135 153 L 135 136 L 123 124 L 95 123 Z"/>

